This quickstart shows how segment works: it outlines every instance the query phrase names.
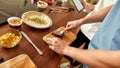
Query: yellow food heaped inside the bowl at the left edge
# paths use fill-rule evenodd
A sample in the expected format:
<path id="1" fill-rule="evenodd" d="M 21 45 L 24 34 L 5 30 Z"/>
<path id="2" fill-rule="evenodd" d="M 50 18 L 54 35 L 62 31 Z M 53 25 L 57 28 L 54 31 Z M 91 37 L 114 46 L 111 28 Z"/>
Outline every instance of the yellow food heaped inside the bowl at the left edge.
<path id="1" fill-rule="evenodd" d="M 0 36 L 0 44 L 3 47 L 11 48 L 20 40 L 19 36 L 16 36 L 14 33 L 6 33 Z"/>

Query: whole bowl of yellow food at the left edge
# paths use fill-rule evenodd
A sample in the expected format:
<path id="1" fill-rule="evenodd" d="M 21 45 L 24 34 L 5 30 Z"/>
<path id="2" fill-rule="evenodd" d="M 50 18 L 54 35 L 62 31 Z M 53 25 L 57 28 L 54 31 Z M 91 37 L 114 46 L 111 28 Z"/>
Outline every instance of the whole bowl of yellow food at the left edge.
<path id="1" fill-rule="evenodd" d="M 21 40 L 22 35 L 17 29 L 0 29 L 0 46 L 5 48 L 15 47 Z"/>

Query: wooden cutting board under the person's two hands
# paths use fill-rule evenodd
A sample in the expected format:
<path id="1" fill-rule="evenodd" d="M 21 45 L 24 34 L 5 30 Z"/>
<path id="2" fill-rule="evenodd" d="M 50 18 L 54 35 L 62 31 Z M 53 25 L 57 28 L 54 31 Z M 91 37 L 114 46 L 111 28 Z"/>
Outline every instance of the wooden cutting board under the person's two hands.
<path id="1" fill-rule="evenodd" d="M 59 28 L 56 29 L 56 30 L 61 30 L 61 31 L 63 31 L 64 29 L 65 29 L 65 27 L 59 27 Z M 54 36 L 54 35 L 52 34 L 52 32 L 51 32 L 51 33 L 43 36 L 43 40 L 47 43 L 47 39 L 48 39 L 48 38 L 53 38 L 53 37 L 56 37 L 56 36 Z M 67 42 L 68 45 L 70 45 L 70 44 L 76 39 L 76 35 L 75 35 L 73 32 L 65 31 L 65 32 L 64 32 L 64 36 L 63 36 L 62 38 L 60 38 L 60 39 L 62 39 L 63 41 Z"/>

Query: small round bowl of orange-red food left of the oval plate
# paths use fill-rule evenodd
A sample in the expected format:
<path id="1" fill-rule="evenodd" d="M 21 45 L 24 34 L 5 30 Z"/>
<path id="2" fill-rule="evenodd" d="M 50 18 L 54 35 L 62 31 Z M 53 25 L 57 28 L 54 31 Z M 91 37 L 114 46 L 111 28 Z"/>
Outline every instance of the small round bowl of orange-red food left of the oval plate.
<path id="1" fill-rule="evenodd" d="M 8 24 L 13 28 L 20 28 L 23 21 L 19 17 L 9 17 L 7 19 Z"/>

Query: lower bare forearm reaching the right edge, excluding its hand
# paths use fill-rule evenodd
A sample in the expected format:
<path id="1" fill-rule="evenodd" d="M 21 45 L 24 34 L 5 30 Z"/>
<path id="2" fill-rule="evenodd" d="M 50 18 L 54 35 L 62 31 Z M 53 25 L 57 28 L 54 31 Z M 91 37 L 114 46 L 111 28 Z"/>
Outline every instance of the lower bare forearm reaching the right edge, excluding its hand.
<path id="1" fill-rule="evenodd" d="M 68 47 L 64 54 L 91 68 L 120 68 L 120 51 L 81 50 Z"/>

